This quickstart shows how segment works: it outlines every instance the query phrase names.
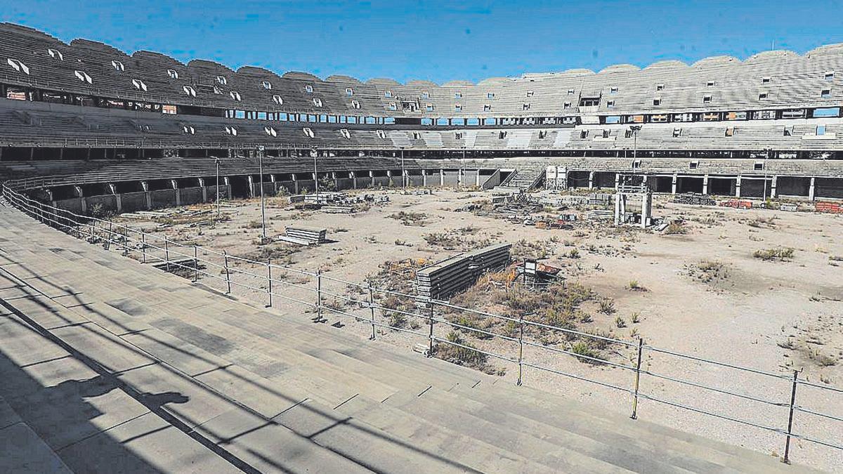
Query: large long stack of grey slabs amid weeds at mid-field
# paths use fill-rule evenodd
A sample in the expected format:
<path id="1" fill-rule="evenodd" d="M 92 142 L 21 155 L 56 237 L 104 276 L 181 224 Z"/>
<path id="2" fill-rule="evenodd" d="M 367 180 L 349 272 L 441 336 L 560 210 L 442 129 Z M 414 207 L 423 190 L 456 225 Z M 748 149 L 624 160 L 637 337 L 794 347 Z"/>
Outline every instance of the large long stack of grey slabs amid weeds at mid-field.
<path id="1" fill-rule="evenodd" d="M 421 268 L 416 272 L 418 294 L 427 299 L 444 299 L 469 288 L 484 272 L 507 266 L 511 247 L 490 245 Z"/>

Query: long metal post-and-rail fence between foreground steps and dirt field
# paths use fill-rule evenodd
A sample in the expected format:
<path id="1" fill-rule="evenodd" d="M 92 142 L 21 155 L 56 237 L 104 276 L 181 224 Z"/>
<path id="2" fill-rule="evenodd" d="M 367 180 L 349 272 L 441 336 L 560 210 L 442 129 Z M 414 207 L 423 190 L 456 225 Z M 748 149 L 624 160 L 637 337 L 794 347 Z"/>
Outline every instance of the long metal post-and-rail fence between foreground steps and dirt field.
<path id="1" fill-rule="evenodd" d="M 803 405 L 815 400 L 829 401 L 834 397 L 843 397 L 843 389 L 827 384 L 819 384 L 807 380 L 799 371 L 792 374 L 776 374 L 760 369 L 728 364 L 695 355 L 677 353 L 661 347 L 644 343 L 641 338 L 631 341 L 592 334 L 576 329 L 552 326 L 536 320 L 530 315 L 496 315 L 481 310 L 475 310 L 448 301 L 437 299 L 423 299 L 417 295 L 405 294 L 386 288 L 376 288 L 368 283 L 355 283 L 332 277 L 329 274 L 316 271 L 308 272 L 293 267 L 279 265 L 271 260 L 256 261 L 240 256 L 229 255 L 225 250 L 217 251 L 198 245 L 184 245 L 169 240 L 164 235 L 133 229 L 126 224 L 115 223 L 110 220 L 92 218 L 72 213 L 57 207 L 51 207 L 24 196 L 19 185 L 9 182 L 3 185 L 3 197 L 20 211 L 50 225 L 55 229 L 70 234 L 78 239 L 87 240 L 91 244 L 102 245 L 105 250 L 121 252 L 123 256 L 131 256 L 142 264 L 153 265 L 167 272 L 180 274 L 197 282 L 213 286 L 217 284 L 220 291 L 232 294 L 249 294 L 252 297 L 266 298 L 266 306 L 273 307 L 281 300 L 302 304 L 314 313 L 314 320 L 324 320 L 325 315 L 338 315 L 351 318 L 357 323 L 371 326 L 370 339 L 398 331 L 410 334 L 424 342 L 427 357 L 438 355 L 439 347 L 455 347 L 464 354 L 482 354 L 484 358 L 492 358 L 503 363 L 513 364 L 518 370 L 518 385 L 524 382 L 525 369 L 535 369 L 540 372 L 556 374 L 568 379 L 580 380 L 588 384 L 599 385 L 609 391 L 616 391 L 628 396 L 631 403 L 631 417 L 639 414 L 639 401 L 652 401 L 679 410 L 699 413 L 706 417 L 715 417 L 728 422 L 758 428 L 769 434 L 781 435 L 784 441 L 782 461 L 789 462 L 792 439 L 800 439 L 808 443 L 824 446 L 831 450 L 843 450 L 840 438 L 820 439 L 815 434 L 797 430 L 813 425 L 812 419 L 822 419 L 823 423 L 843 423 L 843 416 L 832 415 L 820 411 L 819 408 Z M 389 298 L 399 300 L 405 305 L 389 303 Z M 411 304 L 407 304 L 411 303 Z M 508 331 L 494 331 L 493 327 L 479 327 L 467 325 L 463 320 L 449 318 L 449 315 L 474 315 L 476 318 L 504 323 Z M 496 326 L 497 327 L 497 326 Z M 457 329 L 467 335 L 481 335 L 490 340 L 506 342 L 511 347 L 509 351 L 476 347 L 464 339 L 455 339 L 443 334 L 443 330 Z M 569 350 L 566 345 L 549 344 L 535 335 L 554 334 L 565 337 L 567 341 L 588 341 L 604 347 L 615 347 L 616 352 L 626 351 L 629 364 L 615 358 L 601 358 L 599 354 L 584 353 Z M 566 356 L 567 360 L 576 358 L 585 364 L 583 370 L 560 367 L 556 364 L 556 356 Z M 651 362 L 644 364 L 644 360 Z M 655 370 L 658 365 L 661 369 Z M 691 380 L 688 375 L 693 370 L 682 372 L 685 376 L 667 374 L 664 369 L 682 363 L 695 364 L 695 371 L 701 374 L 711 374 L 717 380 L 725 380 L 722 385 Z M 609 378 L 599 380 L 599 371 L 593 370 L 595 365 L 618 369 L 627 373 L 625 378 L 621 374 L 611 371 Z M 737 376 L 737 377 L 736 377 Z M 756 377 L 759 380 L 760 394 L 747 391 L 737 391 L 729 387 L 731 380 Z M 645 381 L 673 384 L 670 388 L 657 390 L 652 387 L 644 390 Z M 771 385 L 768 385 L 771 384 Z M 689 402 L 669 397 L 668 393 L 680 393 L 682 389 L 690 391 L 704 391 L 706 397 L 697 401 L 709 401 L 691 405 Z M 774 398 L 774 391 L 779 391 L 780 399 Z M 803 392 L 817 391 L 819 395 L 805 396 Z M 690 393 L 690 392 L 689 392 Z M 803 395 L 802 398 L 799 395 Z M 719 397 L 719 398 L 718 398 Z M 696 398 L 696 397 L 695 397 Z M 843 399 L 834 399 L 838 406 Z M 746 403 L 747 405 L 740 405 Z M 714 405 L 715 408 L 708 407 Z M 742 416 L 733 412 L 724 412 L 716 408 L 741 407 L 738 410 Z M 745 407 L 745 409 L 744 409 Z M 754 416 L 759 415 L 759 416 Z M 797 415 L 799 415 L 797 419 Z M 813 418 L 812 418 L 813 417 Z M 759 421 L 760 419 L 764 421 Z M 775 422 L 775 423 L 774 423 Z M 797 423 L 798 422 L 798 423 Z M 834 433 L 843 424 L 834 425 Z M 824 434 L 829 433 L 822 430 Z"/>

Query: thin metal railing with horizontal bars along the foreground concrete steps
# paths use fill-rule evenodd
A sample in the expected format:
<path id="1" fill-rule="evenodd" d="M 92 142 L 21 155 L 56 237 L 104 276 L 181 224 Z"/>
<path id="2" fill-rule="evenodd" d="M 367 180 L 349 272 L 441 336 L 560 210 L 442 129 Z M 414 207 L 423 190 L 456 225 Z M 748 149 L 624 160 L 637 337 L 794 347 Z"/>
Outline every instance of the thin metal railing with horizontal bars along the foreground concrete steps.
<path id="1" fill-rule="evenodd" d="M 196 279 L 199 275 L 211 277 L 213 280 L 218 282 L 224 282 L 228 288 L 227 293 L 231 293 L 231 288 L 234 286 L 235 288 L 245 288 L 250 291 L 254 291 L 259 294 L 266 294 L 269 297 L 271 306 L 272 297 L 287 299 L 289 301 L 293 301 L 294 303 L 304 304 L 310 308 L 314 308 L 318 311 L 319 317 L 322 315 L 322 311 L 326 310 L 332 314 L 336 315 L 344 315 L 347 317 L 351 317 L 354 320 L 362 324 L 368 324 L 372 326 L 372 339 L 375 337 L 375 328 L 381 327 L 385 329 L 389 329 L 392 331 L 400 331 L 411 333 L 418 337 L 424 337 L 427 339 L 429 344 L 428 356 L 432 356 L 435 354 L 434 347 L 435 344 L 446 344 L 451 345 L 454 347 L 460 347 L 464 350 L 471 351 L 473 353 L 479 353 L 486 357 L 497 358 L 499 360 L 505 361 L 510 364 L 517 364 L 518 365 L 518 385 L 521 385 L 523 379 L 523 369 L 525 367 L 537 369 L 543 372 L 547 372 L 550 374 L 559 374 L 562 376 L 566 376 L 575 380 L 582 380 L 584 382 L 588 382 L 595 385 L 604 386 L 606 388 L 622 391 L 625 392 L 633 397 L 633 417 L 636 417 L 636 403 L 638 399 L 653 401 L 656 403 L 660 403 L 663 405 L 668 405 L 671 407 L 676 407 L 679 409 L 687 410 L 690 412 L 700 413 L 702 415 L 717 417 L 724 420 L 728 420 L 733 423 L 740 423 L 746 426 L 751 426 L 754 428 L 759 428 L 765 431 L 774 432 L 776 434 L 782 434 L 787 437 L 787 445 L 785 449 L 785 461 L 789 459 L 789 444 L 790 439 L 802 439 L 804 441 L 811 442 L 813 444 L 819 444 L 824 447 L 843 450 L 843 446 L 836 444 L 832 441 L 822 440 L 822 439 L 815 439 L 812 436 L 808 436 L 806 434 L 800 434 L 795 432 L 792 428 L 792 421 L 793 416 L 795 413 L 804 413 L 806 415 L 810 415 L 812 417 L 822 417 L 825 420 L 830 420 L 833 422 L 843 422 L 843 417 L 831 415 L 829 413 L 817 412 L 802 405 L 797 404 L 796 397 L 797 397 L 797 386 L 798 385 L 805 385 L 810 386 L 813 389 L 817 389 L 820 391 L 825 391 L 826 393 L 830 394 L 840 394 L 843 393 L 843 389 L 838 387 L 830 386 L 830 385 L 819 385 L 813 382 L 809 382 L 808 380 L 801 380 L 798 377 L 798 374 L 795 373 L 792 377 L 782 374 L 771 373 L 765 370 L 760 369 L 753 369 L 749 367 L 742 367 L 735 364 L 728 364 L 725 362 L 720 362 L 716 360 L 711 360 L 708 358 L 701 358 L 699 356 L 685 354 L 685 353 L 678 353 L 675 351 L 671 351 L 668 349 L 663 349 L 660 347 L 654 347 L 649 344 L 644 344 L 642 341 L 637 342 L 630 342 L 624 341 L 621 339 L 616 339 L 612 337 L 604 337 L 598 336 L 595 334 L 589 334 L 588 332 L 583 331 L 576 331 L 568 328 L 557 327 L 546 325 L 540 323 L 538 321 L 527 320 L 524 319 L 523 316 L 518 318 L 513 318 L 511 316 L 505 315 L 496 315 L 492 313 L 488 313 L 481 310 L 475 310 L 471 308 L 465 308 L 463 306 L 459 306 L 456 304 L 451 304 L 448 301 L 438 300 L 438 299 L 424 299 L 418 295 L 412 294 L 404 294 L 401 292 L 396 292 L 392 290 L 387 290 L 384 288 L 375 288 L 368 283 L 354 283 L 339 277 L 330 277 L 328 275 L 323 274 L 322 272 L 309 272 L 306 270 L 300 270 L 292 267 L 287 266 L 279 266 L 274 265 L 271 261 L 255 261 L 249 258 L 245 258 L 242 256 L 232 256 L 228 255 L 225 251 L 219 251 L 210 249 L 208 247 L 200 247 L 198 245 L 184 245 L 173 240 L 169 240 L 166 235 L 159 235 L 153 234 L 148 232 L 143 232 L 140 229 L 132 229 L 127 224 L 120 224 L 114 223 L 110 220 L 94 218 L 90 216 L 83 216 L 77 213 L 72 213 L 71 211 L 67 211 L 65 209 L 61 209 L 59 207 L 53 207 L 42 202 L 35 201 L 30 197 L 26 197 L 21 194 L 19 191 L 27 188 L 27 186 L 37 186 L 35 183 L 44 182 L 43 180 L 16 180 L 7 183 L 3 183 L 2 194 L 5 199 L 16 207 L 23 213 L 30 215 L 30 217 L 40 220 L 42 223 L 51 225 L 56 227 L 57 229 L 63 229 L 67 234 L 74 235 L 82 240 L 89 240 L 91 243 L 96 242 L 104 242 L 104 247 L 107 250 L 111 249 L 111 246 L 114 245 L 115 250 L 123 251 L 123 254 L 128 256 L 130 250 L 132 252 L 142 252 L 143 261 L 145 262 L 147 258 L 151 259 L 152 261 L 157 261 L 158 267 L 165 267 L 169 270 L 169 267 L 178 268 L 181 270 L 185 270 L 185 273 L 189 271 L 193 274 L 193 278 Z M 163 247 L 158 242 L 164 242 Z M 158 244 L 158 245 L 156 245 Z M 131 245 L 131 247 L 130 247 Z M 158 252 L 164 252 L 164 256 L 156 255 L 154 252 L 148 251 L 148 249 L 158 250 Z M 185 253 L 182 249 L 191 249 L 191 253 Z M 201 254 L 200 254 L 201 249 Z M 217 256 L 223 260 L 223 263 L 219 263 L 218 261 L 211 261 L 207 258 L 208 255 Z M 172 256 L 178 256 L 181 260 L 173 260 Z M 185 262 L 187 261 L 187 262 Z M 191 262 L 192 261 L 192 262 Z M 239 262 L 238 267 L 233 267 L 230 261 L 237 261 Z M 161 263 L 165 265 L 162 266 Z M 217 268 L 222 268 L 223 273 L 213 273 L 207 272 L 206 270 L 200 269 L 200 265 L 204 266 L 213 266 Z M 266 268 L 266 274 L 262 275 L 259 272 L 251 270 L 251 268 L 241 268 L 240 266 L 253 266 L 253 267 L 264 267 Z M 271 276 L 272 269 L 278 269 L 282 271 L 289 271 L 294 272 L 298 275 L 307 276 L 310 278 L 315 279 L 316 286 L 315 288 L 306 284 L 297 284 L 297 283 L 290 283 L 283 280 L 278 279 L 277 277 Z M 257 286 L 244 283 L 243 281 L 238 281 L 232 278 L 232 273 L 245 275 L 251 278 L 256 278 L 260 282 L 268 283 L 269 288 L 258 288 Z M 357 288 L 360 291 L 360 294 L 368 294 L 368 300 L 364 299 L 357 299 L 346 296 L 344 294 L 337 294 L 331 291 L 330 289 L 323 288 L 323 282 L 333 282 L 333 283 L 341 283 L 346 285 L 346 288 Z M 272 290 L 273 283 L 283 283 L 288 287 L 298 288 L 302 291 L 313 292 L 316 294 L 316 302 L 307 301 L 304 299 L 300 299 L 290 294 L 283 294 L 278 293 L 277 291 Z M 376 304 L 375 300 L 373 299 L 373 294 L 375 293 L 383 293 L 383 294 L 390 294 L 395 296 L 400 296 L 402 298 L 409 299 L 410 301 L 415 301 L 416 303 L 423 303 L 423 309 L 419 312 L 410 312 L 405 310 L 400 310 L 396 308 L 387 308 L 380 304 Z M 357 309 L 368 310 L 370 312 L 369 317 L 365 317 L 363 315 L 357 315 L 352 312 L 348 312 L 346 310 L 341 310 L 336 307 L 332 307 L 330 304 L 326 304 L 323 301 L 324 296 L 327 295 L 329 297 L 333 297 L 336 299 L 345 300 L 346 302 L 350 302 L 352 304 L 357 305 Z M 361 297 L 362 298 L 362 297 Z M 466 326 L 463 324 L 459 324 L 458 322 L 454 322 L 451 320 L 444 319 L 443 317 L 439 317 L 436 315 L 436 308 L 440 309 L 447 309 L 449 311 L 458 310 L 458 311 L 466 311 L 476 315 L 482 315 L 488 318 L 494 318 L 498 321 L 506 321 L 507 323 L 513 323 L 516 328 L 520 329 L 520 334 L 518 337 L 514 336 L 506 336 L 503 334 L 498 334 L 493 331 L 486 331 L 481 328 L 475 328 L 471 326 Z M 428 333 L 424 334 L 421 331 L 415 331 L 414 329 L 408 329 L 406 327 L 395 326 L 392 324 L 386 324 L 380 320 L 377 320 L 375 315 L 375 310 L 381 310 L 384 315 L 389 314 L 396 314 L 396 315 L 407 315 L 415 318 L 419 318 L 422 321 L 427 321 L 428 324 Z M 396 323 L 397 324 L 397 323 Z M 468 343 L 463 342 L 455 342 L 451 341 L 448 338 L 439 337 L 435 331 L 435 325 L 445 325 L 450 327 L 455 327 L 464 331 L 466 334 L 471 334 L 472 332 L 476 332 L 479 334 L 484 334 L 488 337 L 494 337 L 503 341 L 513 342 L 518 344 L 518 358 L 513 358 L 510 355 L 504 355 L 501 353 L 495 353 L 491 350 L 486 350 L 480 347 L 474 347 Z M 588 354 L 580 354 L 570 350 L 566 350 L 560 347 L 552 347 L 552 346 L 545 346 L 545 344 L 535 341 L 530 341 L 524 339 L 524 329 L 528 326 L 538 327 L 541 329 L 545 329 L 548 331 L 562 331 L 569 335 L 573 335 L 576 337 L 582 338 L 592 338 L 595 340 L 599 340 L 601 342 L 605 342 L 612 345 L 618 345 L 627 348 L 637 348 L 637 364 L 627 365 L 627 364 L 620 364 L 614 361 L 609 360 L 608 358 L 600 358 L 595 357 L 593 355 Z M 416 326 L 418 327 L 418 326 Z M 570 372 L 566 372 L 562 369 L 557 369 L 553 367 L 549 367 L 545 364 L 538 364 L 535 362 L 531 362 L 524 358 L 524 347 L 534 347 L 540 350 L 547 351 L 549 353 L 555 354 L 564 354 L 571 356 L 573 358 L 577 358 L 583 361 L 587 361 L 588 363 L 593 364 L 604 364 L 608 367 L 629 370 L 635 374 L 635 387 L 628 388 L 622 385 L 616 385 L 609 382 L 604 382 L 600 380 L 593 380 L 583 375 L 572 374 Z M 698 383 L 691 380 L 680 379 L 678 377 L 672 377 L 665 374 L 658 374 L 657 372 L 653 371 L 652 369 L 643 369 L 642 368 L 642 353 L 644 351 L 649 351 L 650 353 L 660 353 L 663 354 L 667 358 L 679 358 L 684 360 L 693 361 L 696 364 L 703 364 L 711 365 L 713 367 L 722 368 L 722 369 L 732 369 L 732 370 L 739 370 L 748 372 L 751 374 L 757 374 L 772 380 L 787 380 L 791 382 L 791 398 L 789 401 L 774 401 L 769 400 L 766 398 L 761 398 L 758 396 L 752 396 L 745 393 L 738 393 L 735 391 L 728 391 L 722 389 L 720 387 L 715 387 L 711 385 L 706 385 L 702 383 Z M 651 362 L 650 364 L 653 364 Z M 753 421 L 749 421 L 747 419 L 741 417 L 730 416 L 728 414 L 723 414 L 722 412 L 712 412 L 709 409 L 703 409 L 700 407 L 693 407 L 687 405 L 683 402 L 679 401 L 670 401 L 662 396 L 657 396 L 652 393 L 646 393 L 643 391 L 639 391 L 639 380 L 643 376 L 652 377 L 654 379 L 668 381 L 680 385 L 690 386 L 697 389 L 701 389 L 704 391 L 713 391 L 722 396 L 732 396 L 740 400 L 750 401 L 754 403 L 760 403 L 765 406 L 773 406 L 773 407 L 780 407 L 780 408 L 787 408 L 787 412 L 789 413 L 789 420 L 787 423 L 787 428 L 776 428 L 771 427 L 761 423 L 755 423 Z"/>

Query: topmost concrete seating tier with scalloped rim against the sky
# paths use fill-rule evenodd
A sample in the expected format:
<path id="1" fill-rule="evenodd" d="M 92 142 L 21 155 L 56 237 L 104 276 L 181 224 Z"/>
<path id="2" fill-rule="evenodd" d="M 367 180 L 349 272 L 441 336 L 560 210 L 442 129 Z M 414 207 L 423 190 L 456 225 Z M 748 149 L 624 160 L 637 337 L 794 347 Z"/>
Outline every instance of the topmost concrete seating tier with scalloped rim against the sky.
<path id="1" fill-rule="evenodd" d="M 148 51 L 126 53 L 88 40 L 68 45 L 36 30 L 0 24 L 0 59 L 8 83 L 103 97 L 145 97 L 165 104 L 205 105 L 236 110 L 309 112 L 381 117 L 621 116 L 734 110 L 838 107 L 843 99 L 843 46 L 822 46 L 800 55 L 765 51 L 740 61 L 710 57 L 686 65 L 657 62 L 643 69 L 607 67 L 599 73 L 525 74 L 471 84 L 389 79 L 362 83 L 332 76 L 276 73 L 257 67 L 228 67 L 193 61 L 187 65 Z M 29 73 L 5 61 L 23 62 Z M 113 62 L 121 62 L 115 67 Z M 78 78 L 76 71 L 86 73 Z M 172 71 L 170 73 L 169 71 Z M 219 84 L 223 75 L 227 83 Z M 132 80 L 145 84 L 143 90 Z M 266 88 L 264 81 L 271 83 Z M 217 94 L 213 85 L 220 85 Z M 49 87 L 48 87 L 49 86 Z M 185 93 L 185 87 L 192 92 Z M 230 92 L 240 94 L 232 99 Z M 273 100 L 280 95 L 283 104 Z M 137 99 L 141 100 L 141 99 Z M 581 100 L 597 105 L 580 107 Z"/>

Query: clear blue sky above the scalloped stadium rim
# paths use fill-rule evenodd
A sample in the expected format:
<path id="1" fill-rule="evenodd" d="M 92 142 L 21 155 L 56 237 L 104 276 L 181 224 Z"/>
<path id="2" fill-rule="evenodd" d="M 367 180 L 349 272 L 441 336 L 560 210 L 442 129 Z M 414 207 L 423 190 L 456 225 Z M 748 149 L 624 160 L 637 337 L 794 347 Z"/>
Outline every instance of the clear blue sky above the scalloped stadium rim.
<path id="1" fill-rule="evenodd" d="M 0 20 L 61 40 L 100 40 L 325 78 L 478 81 L 599 70 L 663 59 L 694 62 L 843 42 L 843 2 L 481 2 L 10 0 Z"/>

